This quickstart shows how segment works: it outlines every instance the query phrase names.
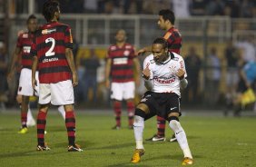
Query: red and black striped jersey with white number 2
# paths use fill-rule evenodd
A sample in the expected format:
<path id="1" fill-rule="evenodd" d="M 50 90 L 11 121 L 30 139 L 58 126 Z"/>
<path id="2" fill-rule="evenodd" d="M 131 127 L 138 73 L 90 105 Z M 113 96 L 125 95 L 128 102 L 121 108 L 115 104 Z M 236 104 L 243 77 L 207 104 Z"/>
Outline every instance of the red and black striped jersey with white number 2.
<path id="1" fill-rule="evenodd" d="M 38 58 L 40 83 L 58 83 L 72 78 L 65 49 L 73 48 L 69 25 L 50 22 L 35 34 L 34 55 Z"/>

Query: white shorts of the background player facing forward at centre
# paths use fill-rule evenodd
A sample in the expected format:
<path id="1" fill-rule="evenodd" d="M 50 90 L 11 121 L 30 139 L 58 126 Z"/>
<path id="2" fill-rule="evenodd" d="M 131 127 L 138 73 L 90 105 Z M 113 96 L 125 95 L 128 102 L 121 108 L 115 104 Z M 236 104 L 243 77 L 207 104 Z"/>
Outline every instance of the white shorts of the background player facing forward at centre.
<path id="1" fill-rule="evenodd" d="M 122 101 L 133 99 L 135 96 L 135 83 L 111 83 L 111 98 Z"/>

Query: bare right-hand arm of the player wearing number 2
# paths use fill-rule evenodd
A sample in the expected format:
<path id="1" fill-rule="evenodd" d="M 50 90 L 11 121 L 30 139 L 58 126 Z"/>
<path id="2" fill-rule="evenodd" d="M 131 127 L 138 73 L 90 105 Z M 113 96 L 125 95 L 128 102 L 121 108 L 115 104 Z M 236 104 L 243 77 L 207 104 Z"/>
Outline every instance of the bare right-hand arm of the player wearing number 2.
<path id="1" fill-rule="evenodd" d="M 74 65 L 74 55 L 73 55 L 72 49 L 70 48 L 65 49 L 65 57 L 69 65 L 69 68 L 72 72 L 73 86 L 76 86 L 78 84 L 78 76 L 77 76 L 75 65 Z"/>

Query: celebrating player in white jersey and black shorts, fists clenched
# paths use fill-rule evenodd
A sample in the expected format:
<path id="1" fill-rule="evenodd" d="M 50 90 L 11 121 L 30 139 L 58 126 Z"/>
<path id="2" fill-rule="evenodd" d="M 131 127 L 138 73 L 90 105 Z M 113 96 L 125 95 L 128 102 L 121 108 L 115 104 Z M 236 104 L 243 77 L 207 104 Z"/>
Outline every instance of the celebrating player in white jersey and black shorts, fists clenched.
<path id="1" fill-rule="evenodd" d="M 140 162 L 144 154 L 143 129 L 144 121 L 155 115 L 165 118 L 175 133 L 180 144 L 184 158 L 182 165 L 193 163 L 192 153 L 187 142 L 186 133 L 179 122 L 180 87 L 188 84 L 185 77 L 184 60 L 181 55 L 168 52 L 168 43 L 163 38 L 153 41 L 152 53 L 143 63 L 143 78 L 145 86 L 151 90 L 144 93 L 143 99 L 136 106 L 133 131 L 136 149 L 131 162 Z"/>

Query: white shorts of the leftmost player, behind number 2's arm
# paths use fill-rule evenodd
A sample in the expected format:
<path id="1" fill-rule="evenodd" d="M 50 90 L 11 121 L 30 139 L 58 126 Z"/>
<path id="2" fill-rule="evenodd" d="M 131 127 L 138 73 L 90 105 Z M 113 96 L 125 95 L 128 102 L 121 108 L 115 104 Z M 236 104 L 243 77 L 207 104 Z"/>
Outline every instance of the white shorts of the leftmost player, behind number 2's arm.
<path id="1" fill-rule="evenodd" d="M 38 84 L 38 72 L 35 72 L 35 79 L 37 85 L 35 86 L 35 90 L 32 87 L 32 70 L 28 68 L 23 68 L 20 74 L 20 81 L 18 87 L 18 94 L 25 96 L 37 95 L 39 92 Z"/>

